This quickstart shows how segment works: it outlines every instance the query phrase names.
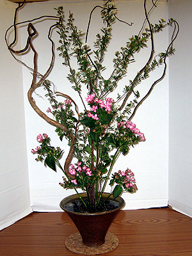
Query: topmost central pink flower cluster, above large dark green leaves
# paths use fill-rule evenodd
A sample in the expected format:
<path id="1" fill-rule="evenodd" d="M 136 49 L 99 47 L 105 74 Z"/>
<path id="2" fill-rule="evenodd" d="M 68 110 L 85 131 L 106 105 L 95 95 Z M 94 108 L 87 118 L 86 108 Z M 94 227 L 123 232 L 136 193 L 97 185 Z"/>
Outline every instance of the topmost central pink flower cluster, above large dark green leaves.
<path id="1" fill-rule="evenodd" d="M 110 112 L 111 111 L 111 106 L 114 102 L 113 99 L 111 98 L 106 98 L 106 103 L 104 103 L 103 100 L 98 99 L 97 97 L 95 97 L 95 93 L 88 95 L 86 97 L 86 102 L 88 102 L 89 104 L 92 105 L 92 108 L 90 109 L 90 111 L 93 112 L 97 112 L 98 107 L 100 107 L 101 109 L 104 108 L 106 112 Z M 95 106 L 96 104 L 96 106 Z M 93 115 L 91 112 L 88 112 L 88 117 L 92 117 L 95 120 L 99 120 L 99 117 L 97 116 L 97 114 Z"/>

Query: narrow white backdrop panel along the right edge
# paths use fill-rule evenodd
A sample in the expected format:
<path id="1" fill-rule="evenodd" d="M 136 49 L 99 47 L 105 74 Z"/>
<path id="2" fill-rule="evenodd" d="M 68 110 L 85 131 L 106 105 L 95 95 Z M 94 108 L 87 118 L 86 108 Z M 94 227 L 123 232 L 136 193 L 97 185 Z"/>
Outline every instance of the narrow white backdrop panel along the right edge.
<path id="1" fill-rule="evenodd" d="M 192 216 L 192 1 L 170 0 L 169 9 L 180 26 L 177 52 L 170 60 L 169 204 Z"/>

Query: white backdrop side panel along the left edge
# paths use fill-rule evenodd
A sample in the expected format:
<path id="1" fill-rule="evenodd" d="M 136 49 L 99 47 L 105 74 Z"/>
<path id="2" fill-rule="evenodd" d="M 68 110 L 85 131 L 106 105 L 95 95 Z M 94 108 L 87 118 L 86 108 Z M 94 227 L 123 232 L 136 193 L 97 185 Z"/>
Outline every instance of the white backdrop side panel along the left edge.
<path id="1" fill-rule="evenodd" d="M 0 230 L 32 212 L 26 154 L 22 67 L 13 60 L 4 42 L 4 33 L 8 26 L 12 25 L 16 7 L 17 4 L 0 0 Z"/>

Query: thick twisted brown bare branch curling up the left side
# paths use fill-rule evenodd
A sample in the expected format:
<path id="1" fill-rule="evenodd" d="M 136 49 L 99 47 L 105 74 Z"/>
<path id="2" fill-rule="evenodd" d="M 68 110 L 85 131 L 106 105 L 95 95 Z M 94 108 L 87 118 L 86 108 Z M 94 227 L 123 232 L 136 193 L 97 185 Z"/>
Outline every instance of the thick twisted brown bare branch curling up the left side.
<path id="1" fill-rule="evenodd" d="M 72 158 L 73 158 L 73 154 L 74 154 L 74 146 L 73 146 L 73 143 L 74 143 L 74 140 L 76 138 L 76 136 L 74 136 L 74 134 L 72 133 L 69 133 L 68 132 L 68 128 L 65 127 L 65 125 L 62 125 L 60 124 L 60 122 L 57 122 L 56 120 L 53 120 L 52 118 L 49 118 L 49 116 L 45 115 L 45 113 L 43 111 L 41 111 L 38 106 L 36 106 L 36 103 L 35 103 L 35 100 L 33 99 L 32 97 L 32 94 L 33 92 L 35 92 L 36 88 L 42 86 L 42 81 L 45 80 L 45 78 L 49 75 L 49 73 L 51 72 L 52 70 L 52 67 L 53 67 L 53 64 L 54 64 L 54 42 L 52 41 L 51 39 L 51 30 L 52 28 L 54 28 L 56 26 L 56 24 L 52 25 L 50 28 L 49 28 L 49 33 L 48 33 L 48 39 L 51 41 L 51 52 L 52 52 L 52 57 L 51 57 L 51 63 L 49 65 L 49 68 L 47 68 L 47 71 L 45 72 L 44 75 L 38 73 L 37 71 L 37 52 L 35 50 L 35 47 L 33 46 L 33 42 L 32 42 L 32 39 L 36 36 L 37 32 L 36 32 L 36 29 L 35 27 L 33 26 L 33 24 L 31 22 L 35 21 L 35 20 L 39 20 L 39 19 L 43 19 L 43 18 L 47 18 L 47 19 L 58 19 L 58 17 L 56 16 L 41 16 L 41 17 L 38 17 L 38 18 L 35 18 L 33 20 L 27 20 L 27 21 L 24 21 L 24 22 L 19 22 L 19 23 L 16 23 L 16 20 L 17 20 L 17 13 L 18 13 L 18 10 L 19 8 L 21 8 L 22 6 L 24 5 L 24 3 L 22 4 L 19 4 L 19 6 L 15 9 L 15 16 L 14 16 L 14 23 L 12 26 L 10 26 L 10 28 L 8 28 L 6 30 L 6 34 L 5 34 L 5 41 L 6 41 L 6 45 L 8 46 L 8 50 L 10 51 L 10 53 L 12 54 L 13 58 L 15 58 L 15 60 L 19 61 L 20 63 L 22 63 L 22 65 L 24 65 L 25 67 L 28 67 L 28 65 L 26 65 L 26 63 L 23 63 L 22 61 L 20 61 L 19 59 L 17 59 L 14 54 L 22 54 L 22 53 L 25 53 L 28 51 L 29 48 L 31 48 L 31 50 L 33 51 L 34 53 L 34 56 L 33 56 L 33 68 L 31 67 L 28 67 L 29 70 L 32 71 L 32 74 L 33 74 L 33 79 L 32 79 L 32 82 L 31 82 L 31 87 L 29 88 L 28 90 L 28 100 L 29 100 L 29 103 L 31 104 L 32 108 L 36 111 L 36 113 L 42 117 L 46 122 L 48 122 L 49 124 L 55 126 L 55 127 L 58 127 L 60 129 L 62 129 L 64 132 L 67 132 L 70 136 L 70 138 L 72 139 L 72 145 L 70 147 L 70 151 L 68 153 L 68 157 L 65 161 L 65 173 L 68 177 L 70 177 L 70 179 L 74 179 L 74 176 L 73 175 L 70 175 L 70 173 L 68 173 L 68 168 L 70 166 L 70 163 L 72 161 Z M 13 49 L 13 45 L 15 45 L 15 42 L 17 42 L 17 26 L 19 26 L 20 24 L 25 24 L 25 23 L 28 23 L 28 38 L 27 38 L 27 42 L 26 42 L 26 46 L 24 47 L 24 49 L 21 49 L 21 50 L 18 50 L 18 51 L 15 51 Z M 8 44 L 8 40 L 7 40 L 7 35 L 8 35 L 8 31 L 10 31 L 11 28 L 14 28 L 14 39 L 13 39 L 13 42 L 11 44 Z M 40 77 L 39 81 L 36 82 L 36 77 Z M 68 97 L 68 96 L 67 96 Z M 68 97 L 70 98 L 70 97 Z M 72 100 L 72 99 L 71 99 Z M 72 102 L 74 102 L 74 100 L 72 100 Z M 74 102 L 75 104 L 75 102 Z M 76 106 L 76 104 L 75 104 Z M 77 111 L 77 109 L 76 109 Z M 78 113 L 79 115 L 79 113 Z M 76 127 L 77 129 L 77 127 Z"/>

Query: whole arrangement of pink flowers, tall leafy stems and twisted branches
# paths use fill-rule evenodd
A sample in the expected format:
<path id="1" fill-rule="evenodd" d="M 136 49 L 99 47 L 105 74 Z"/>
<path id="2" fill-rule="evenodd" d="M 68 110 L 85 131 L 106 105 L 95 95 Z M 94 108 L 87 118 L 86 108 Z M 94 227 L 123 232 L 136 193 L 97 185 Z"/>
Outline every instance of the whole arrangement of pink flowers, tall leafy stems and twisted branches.
<path id="1" fill-rule="evenodd" d="M 60 161 L 63 150 L 60 147 L 53 147 L 51 139 L 44 133 L 37 136 L 37 141 L 40 145 L 35 150 L 33 149 L 32 153 L 38 155 L 36 161 L 44 162 L 45 166 L 49 166 L 54 171 L 56 171 L 56 166 L 63 171 L 63 181 L 60 182 L 60 185 L 65 189 L 75 189 L 88 212 L 99 211 L 102 204 L 104 204 L 101 199 L 107 182 L 111 186 L 109 196 L 113 195 L 113 198 L 116 198 L 124 191 L 133 193 L 137 190 L 136 180 L 131 170 L 127 168 L 127 170 L 112 172 L 113 165 L 120 154 L 125 156 L 131 147 L 134 147 L 140 141 L 145 141 L 145 136 L 131 120 L 141 103 L 150 95 L 154 86 L 164 78 L 166 59 L 175 51 L 173 42 L 179 32 L 177 21 L 170 19 L 166 22 L 164 19 L 160 19 L 157 24 L 151 24 L 149 14 L 153 8 L 156 8 L 157 1 L 151 1 L 152 8 L 149 11 L 147 11 L 146 7 L 147 0 L 143 0 L 143 3 L 145 21 L 141 26 L 141 30 L 138 35 L 131 36 L 124 47 L 115 52 L 113 71 L 108 78 L 103 75 L 103 71 L 106 69 L 103 61 L 111 40 L 113 24 L 115 21 L 124 22 L 128 26 L 132 24 L 118 19 L 116 16 L 117 10 L 112 0 L 106 1 L 104 6 L 95 6 L 95 8 L 100 8 L 104 27 L 96 35 L 92 51 L 87 41 L 90 20 L 95 8 L 90 13 L 85 35 L 82 29 L 78 30 L 74 25 L 72 13 L 69 13 L 68 19 L 65 20 L 63 7 L 56 9 L 58 15 L 54 18 L 58 21 L 54 26 L 58 29 L 57 32 L 60 36 L 58 51 L 60 51 L 59 55 L 63 58 L 63 65 L 69 70 L 68 81 L 72 84 L 72 88 L 83 103 L 84 109 L 81 113 L 72 97 L 61 92 L 53 92 L 51 81 L 46 79 L 53 65 L 53 51 L 49 69 L 44 75 L 38 74 L 36 51 L 31 40 L 36 35 L 36 29 L 31 22 L 28 25 L 29 38 L 26 50 L 30 46 L 34 52 L 33 81 L 28 92 L 29 102 L 38 115 L 56 127 L 56 132 L 61 141 L 63 138 L 68 140 L 70 147 L 65 164 L 62 166 Z M 163 31 L 167 26 L 173 27 L 172 40 L 166 51 L 154 56 L 154 35 Z M 14 29 L 16 31 L 16 24 L 14 24 Z M 51 40 L 50 31 L 49 40 Z M 151 51 L 145 65 L 136 72 L 136 76 L 132 81 L 129 80 L 129 85 L 125 85 L 122 94 L 118 92 L 116 99 L 112 99 L 110 93 L 118 88 L 118 82 L 127 74 L 127 67 L 134 61 L 134 54 L 147 47 L 148 42 L 150 43 Z M 52 40 L 51 43 L 54 45 Z M 14 53 L 12 45 L 13 43 L 8 44 L 8 48 Z M 16 53 L 18 54 L 19 51 Z M 72 67 L 72 58 L 76 58 L 77 70 Z M 140 93 L 136 90 L 136 86 L 144 79 L 147 79 L 150 72 L 160 65 L 164 66 L 163 74 L 152 83 L 150 90 L 139 101 Z M 36 82 L 37 77 L 39 80 Z M 36 106 L 32 97 L 32 93 L 39 86 L 44 87 L 47 92 L 45 96 L 51 104 L 51 107 L 47 108 L 47 114 Z M 87 90 L 85 99 L 82 97 L 83 88 Z M 65 100 L 58 102 L 57 95 L 64 97 Z M 129 101 L 131 95 L 134 95 L 134 99 Z M 76 163 L 72 163 L 73 158 L 76 158 Z M 88 202 L 84 202 L 83 198 L 81 198 L 79 188 L 86 191 Z"/>

